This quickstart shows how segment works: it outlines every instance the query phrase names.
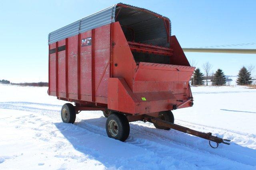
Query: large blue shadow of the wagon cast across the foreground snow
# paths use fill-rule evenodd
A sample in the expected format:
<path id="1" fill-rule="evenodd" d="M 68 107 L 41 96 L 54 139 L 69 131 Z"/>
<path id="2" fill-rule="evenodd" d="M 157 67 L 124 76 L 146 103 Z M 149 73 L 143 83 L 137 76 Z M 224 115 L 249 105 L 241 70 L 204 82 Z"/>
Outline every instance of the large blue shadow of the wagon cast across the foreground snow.
<path id="1" fill-rule="evenodd" d="M 81 120 L 74 125 L 55 125 L 76 150 L 107 168 L 166 169 L 182 162 L 190 166 L 194 164 L 196 168 L 200 167 L 196 162 L 218 165 L 215 168 L 256 166 L 256 150 L 235 143 L 220 144 L 218 149 L 212 149 L 205 139 L 133 123 L 130 123 L 128 139 L 120 142 L 106 135 L 105 122 L 106 118 L 100 117 Z"/>

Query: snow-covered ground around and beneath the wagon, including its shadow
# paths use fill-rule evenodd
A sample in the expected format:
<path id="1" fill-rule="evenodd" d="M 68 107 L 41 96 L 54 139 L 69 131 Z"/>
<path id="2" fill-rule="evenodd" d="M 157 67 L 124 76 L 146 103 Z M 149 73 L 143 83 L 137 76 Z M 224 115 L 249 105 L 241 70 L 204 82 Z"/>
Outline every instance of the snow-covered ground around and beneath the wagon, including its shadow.
<path id="1" fill-rule="evenodd" d="M 256 169 L 256 89 L 192 87 L 194 106 L 175 123 L 230 139 L 208 141 L 151 123 L 130 123 L 126 142 L 106 135 L 101 111 L 62 123 L 65 103 L 47 88 L 0 84 L 0 169 Z"/>

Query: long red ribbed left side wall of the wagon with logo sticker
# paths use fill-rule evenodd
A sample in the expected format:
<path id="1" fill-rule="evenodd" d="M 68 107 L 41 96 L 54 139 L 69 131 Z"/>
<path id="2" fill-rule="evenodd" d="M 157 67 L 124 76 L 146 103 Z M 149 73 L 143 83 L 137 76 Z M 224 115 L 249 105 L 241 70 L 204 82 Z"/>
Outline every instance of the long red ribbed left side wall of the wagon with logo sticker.
<path id="1" fill-rule="evenodd" d="M 88 38 L 92 38 L 92 43 L 82 45 L 82 40 Z M 58 47 L 66 45 L 66 50 L 58 52 L 56 44 Z M 107 104 L 110 77 L 110 24 L 50 44 L 49 49 L 54 48 L 56 53 L 49 55 L 49 94 L 56 96 L 57 86 L 57 97 L 92 102 L 92 96 L 95 96 L 94 102 Z M 58 63 L 56 63 L 56 54 Z"/>

